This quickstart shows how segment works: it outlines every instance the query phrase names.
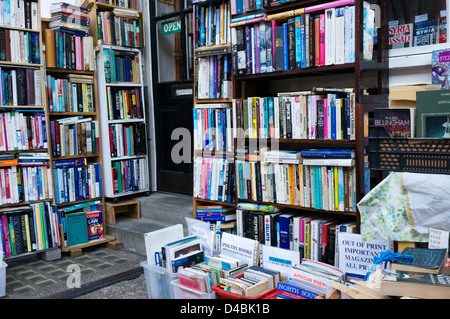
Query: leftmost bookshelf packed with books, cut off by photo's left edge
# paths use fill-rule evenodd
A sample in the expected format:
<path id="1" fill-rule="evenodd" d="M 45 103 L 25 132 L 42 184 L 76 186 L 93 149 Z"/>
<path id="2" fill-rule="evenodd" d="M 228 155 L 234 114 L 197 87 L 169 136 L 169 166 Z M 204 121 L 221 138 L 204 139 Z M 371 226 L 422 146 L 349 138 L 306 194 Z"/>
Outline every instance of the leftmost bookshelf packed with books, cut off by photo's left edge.
<path id="1" fill-rule="evenodd" d="M 43 56 L 39 1 L 11 5 L 0 19 L 0 222 L 5 260 L 52 254 L 60 246 L 55 222 L 48 228 L 37 224 L 43 217 L 54 217 Z M 43 238 L 47 231 L 51 236 Z"/>

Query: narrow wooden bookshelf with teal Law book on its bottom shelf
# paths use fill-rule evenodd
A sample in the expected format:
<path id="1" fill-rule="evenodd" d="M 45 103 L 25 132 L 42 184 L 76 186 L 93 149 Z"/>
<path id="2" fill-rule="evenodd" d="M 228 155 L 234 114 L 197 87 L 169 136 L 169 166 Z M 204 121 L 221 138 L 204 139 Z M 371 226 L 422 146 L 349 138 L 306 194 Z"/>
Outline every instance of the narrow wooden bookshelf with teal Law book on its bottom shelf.
<path id="1" fill-rule="evenodd" d="M 61 250 L 71 254 L 115 239 L 104 223 L 101 117 L 88 13 L 86 7 L 54 3 L 51 18 L 42 23 L 52 207 L 60 217 Z"/>

